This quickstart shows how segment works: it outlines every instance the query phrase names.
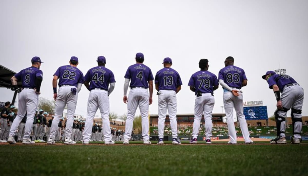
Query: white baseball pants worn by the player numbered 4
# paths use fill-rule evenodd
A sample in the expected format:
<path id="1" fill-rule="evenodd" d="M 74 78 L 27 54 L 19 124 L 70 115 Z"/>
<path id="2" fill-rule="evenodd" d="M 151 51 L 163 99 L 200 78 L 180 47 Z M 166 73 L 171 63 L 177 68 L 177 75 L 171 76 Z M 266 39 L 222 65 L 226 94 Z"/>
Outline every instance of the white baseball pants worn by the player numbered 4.
<path id="1" fill-rule="evenodd" d="M 129 91 L 127 102 L 127 119 L 125 123 L 124 139 L 130 139 L 136 109 L 139 106 L 143 140 L 149 140 L 149 94 L 148 89 L 133 88 Z"/>

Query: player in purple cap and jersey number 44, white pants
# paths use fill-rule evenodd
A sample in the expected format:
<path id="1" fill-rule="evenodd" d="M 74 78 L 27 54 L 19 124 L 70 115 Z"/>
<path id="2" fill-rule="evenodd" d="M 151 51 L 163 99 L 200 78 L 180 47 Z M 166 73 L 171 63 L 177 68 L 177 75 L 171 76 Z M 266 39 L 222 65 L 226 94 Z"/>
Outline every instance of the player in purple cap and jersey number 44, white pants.
<path id="1" fill-rule="evenodd" d="M 115 87 L 115 77 L 111 70 L 105 68 L 106 59 L 104 56 L 99 56 L 97 63 L 98 66 L 91 68 L 84 76 L 84 85 L 90 91 L 90 94 L 88 98 L 87 119 L 83 129 L 83 144 L 89 143 L 93 119 L 98 108 L 103 120 L 105 144 L 114 144 L 115 142 L 111 140 L 108 96 Z"/>

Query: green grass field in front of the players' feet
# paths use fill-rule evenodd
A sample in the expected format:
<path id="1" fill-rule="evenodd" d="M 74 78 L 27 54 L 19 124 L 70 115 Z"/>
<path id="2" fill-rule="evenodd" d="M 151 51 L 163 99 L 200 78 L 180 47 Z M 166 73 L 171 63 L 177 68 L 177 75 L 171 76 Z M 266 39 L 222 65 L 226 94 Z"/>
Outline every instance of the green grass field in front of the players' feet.
<path id="1" fill-rule="evenodd" d="M 134 144 L 138 142 L 133 142 Z M 307 175 L 301 145 L 0 145 L 1 175 Z"/>

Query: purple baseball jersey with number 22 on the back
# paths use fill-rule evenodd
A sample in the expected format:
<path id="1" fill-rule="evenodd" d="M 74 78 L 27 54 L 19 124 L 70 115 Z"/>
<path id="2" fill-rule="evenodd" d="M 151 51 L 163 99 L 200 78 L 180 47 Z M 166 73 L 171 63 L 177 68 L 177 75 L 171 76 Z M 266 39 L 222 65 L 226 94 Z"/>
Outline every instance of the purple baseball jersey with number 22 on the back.
<path id="1" fill-rule="evenodd" d="M 54 76 L 59 77 L 59 86 L 65 84 L 77 87 L 78 83 L 83 84 L 83 73 L 71 65 L 59 67 Z"/>

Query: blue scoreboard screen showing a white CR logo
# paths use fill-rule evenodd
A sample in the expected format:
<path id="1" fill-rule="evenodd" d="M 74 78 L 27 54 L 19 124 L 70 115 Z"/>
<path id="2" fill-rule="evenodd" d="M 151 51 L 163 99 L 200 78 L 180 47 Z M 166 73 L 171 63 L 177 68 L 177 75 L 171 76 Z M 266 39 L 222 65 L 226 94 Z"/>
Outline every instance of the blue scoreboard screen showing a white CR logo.
<path id="1" fill-rule="evenodd" d="M 268 119 L 266 106 L 246 106 L 244 107 L 244 115 L 246 121 Z"/>

